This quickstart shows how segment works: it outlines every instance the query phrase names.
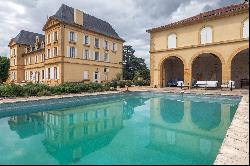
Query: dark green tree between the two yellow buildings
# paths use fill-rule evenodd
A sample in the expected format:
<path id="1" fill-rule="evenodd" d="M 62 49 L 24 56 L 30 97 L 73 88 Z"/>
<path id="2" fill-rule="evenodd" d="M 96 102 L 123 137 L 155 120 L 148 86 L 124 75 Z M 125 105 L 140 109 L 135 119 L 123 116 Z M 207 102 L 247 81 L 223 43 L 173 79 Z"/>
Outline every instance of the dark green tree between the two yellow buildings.
<path id="1" fill-rule="evenodd" d="M 143 58 L 137 58 L 132 46 L 123 47 L 123 79 L 134 80 L 142 77 L 144 80 L 150 79 L 150 71 Z"/>

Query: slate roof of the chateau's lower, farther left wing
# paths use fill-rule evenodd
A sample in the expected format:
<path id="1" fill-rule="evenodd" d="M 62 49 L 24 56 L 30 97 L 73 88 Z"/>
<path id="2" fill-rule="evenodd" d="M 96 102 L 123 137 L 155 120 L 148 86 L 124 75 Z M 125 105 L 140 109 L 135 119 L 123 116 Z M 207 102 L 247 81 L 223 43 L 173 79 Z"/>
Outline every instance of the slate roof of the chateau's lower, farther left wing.
<path id="1" fill-rule="evenodd" d="M 39 36 L 39 40 L 45 41 L 45 36 L 39 33 L 29 32 L 25 30 L 21 30 L 21 32 L 11 41 L 17 43 L 17 44 L 23 44 L 23 45 L 35 45 L 36 42 L 36 36 Z"/>

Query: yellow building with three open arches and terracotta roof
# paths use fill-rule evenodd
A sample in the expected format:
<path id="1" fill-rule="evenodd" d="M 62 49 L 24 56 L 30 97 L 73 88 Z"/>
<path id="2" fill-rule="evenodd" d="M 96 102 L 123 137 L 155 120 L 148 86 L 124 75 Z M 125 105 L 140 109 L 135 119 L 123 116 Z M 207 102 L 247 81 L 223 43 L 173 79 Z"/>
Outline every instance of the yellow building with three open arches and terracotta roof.
<path id="1" fill-rule="evenodd" d="M 173 81 L 249 82 L 249 4 L 220 9 L 147 30 L 151 86 Z"/>

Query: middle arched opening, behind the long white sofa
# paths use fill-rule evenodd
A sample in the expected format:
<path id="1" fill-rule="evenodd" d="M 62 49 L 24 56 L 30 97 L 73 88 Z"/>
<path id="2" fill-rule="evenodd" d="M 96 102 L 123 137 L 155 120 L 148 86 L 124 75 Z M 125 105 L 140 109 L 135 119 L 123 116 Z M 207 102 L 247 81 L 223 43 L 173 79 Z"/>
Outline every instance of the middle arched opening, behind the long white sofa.
<path id="1" fill-rule="evenodd" d="M 220 59 L 209 53 L 199 55 L 192 64 L 192 84 L 196 81 L 218 81 L 222 83 L 222 63 Z"/>

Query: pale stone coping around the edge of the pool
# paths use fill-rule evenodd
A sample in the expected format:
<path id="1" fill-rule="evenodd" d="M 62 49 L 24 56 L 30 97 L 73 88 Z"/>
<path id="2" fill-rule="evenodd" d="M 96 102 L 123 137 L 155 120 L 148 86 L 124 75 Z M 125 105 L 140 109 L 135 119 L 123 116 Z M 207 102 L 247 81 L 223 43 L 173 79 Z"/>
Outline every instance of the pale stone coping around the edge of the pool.
<path id="1" fill-rule="evenodd" d="M 123 89 L 119 91 L 96 92 L 96 93 L 81 93 L 81 94 L 67 94 L 45 97 L 28 97 L 28 98 L 12 98 L 2 99 L 2 103 L 17 103 L 25 101 L 37 101 L 48 99 L 60 99 L 82 96 L 97 96 L 105 94 L 119 94 L 124 92 Z M 130 92 L 165 92 L 175 94 L 194 94 L 194 95 L 216 95 L 216 96 L 238 96 L 242 97 L 236 110 L 233 121 L 227 130 L 227 134 L 223 140 L 219 153 L 214 161 L 214 165 L 248 165 L 249 164 L 249 91 L 242 92 L 228 92 L 228 91 L 191 91 L 191 90 L 172 90 L 172 89 L 154 89 L 154 88 L 136 88 Z"/>

